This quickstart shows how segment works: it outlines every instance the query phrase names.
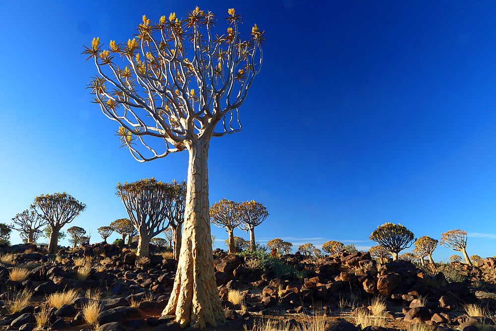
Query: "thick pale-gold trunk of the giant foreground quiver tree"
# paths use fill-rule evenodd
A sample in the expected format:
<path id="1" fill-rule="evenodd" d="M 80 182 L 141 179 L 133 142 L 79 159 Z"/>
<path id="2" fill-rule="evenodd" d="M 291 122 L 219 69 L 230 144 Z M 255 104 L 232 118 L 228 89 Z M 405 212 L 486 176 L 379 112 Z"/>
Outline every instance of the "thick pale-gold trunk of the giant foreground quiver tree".
<path id="1" fill-rule="evenodd" d="M 208 141 L 188 142 L 186 210 L 174 287 L 162 315 L 176 315 L 182 328 L 216 327 L 226 317 L 217 290 L 210 236 Z"/>

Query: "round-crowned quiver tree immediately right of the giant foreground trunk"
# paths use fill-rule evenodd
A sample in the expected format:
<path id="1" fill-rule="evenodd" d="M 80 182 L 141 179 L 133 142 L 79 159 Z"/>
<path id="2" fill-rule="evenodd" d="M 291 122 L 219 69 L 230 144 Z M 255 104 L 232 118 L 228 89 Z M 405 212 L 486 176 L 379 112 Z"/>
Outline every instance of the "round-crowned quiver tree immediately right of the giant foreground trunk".
<path id="1" fill-rule="evenodd" d="M 234 229 L 241 223 L 241 207 L 238 202 L 222 199 L 210 206 L 210 221 L 229 234 L 229 254 L 236 253 Z"/>

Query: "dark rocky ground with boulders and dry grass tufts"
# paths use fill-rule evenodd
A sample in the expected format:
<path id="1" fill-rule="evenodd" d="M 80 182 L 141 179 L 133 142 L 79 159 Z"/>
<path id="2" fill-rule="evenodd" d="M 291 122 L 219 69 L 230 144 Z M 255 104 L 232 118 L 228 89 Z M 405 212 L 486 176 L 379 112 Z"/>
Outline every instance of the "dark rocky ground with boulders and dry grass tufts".
<path id="1" fill-rule="evenodd" d="M 137 259 L 132 249 L 106 243 L 61 249 L 58 255 L 35 245 L 0 245 L 0 252 L 1 330 L 179 330 L 173 316 L 160 316 L 177 268 L 166 254 Z M 368 252 L 318 261 L 286 255 L 279 266 L 218 249 L 213 254 L 227 323 L 207 330 L 494 329 L 492 258 L 438 272 L 405 261 L 377 265 Z M 281 265 L 298 272 L 277 277 Z M 14 272 L 19 268 L 24 277 Z M 48 305 L 47 296 L 70 290 L 76 293 L 70 302 Z M 238 300 L 230 297 L 236 293 Z M 26 303 L 13 307 L 21 294 L 29 294 Z M 383 311 L 377 313 L 374 298 L 383 298 Z M 83 307 L 91 303 L 100 312 L 88 323 Z M 470 305 L 483 312 L 471 315 L 484 316 L 468 316 L 463 307 Z"/>

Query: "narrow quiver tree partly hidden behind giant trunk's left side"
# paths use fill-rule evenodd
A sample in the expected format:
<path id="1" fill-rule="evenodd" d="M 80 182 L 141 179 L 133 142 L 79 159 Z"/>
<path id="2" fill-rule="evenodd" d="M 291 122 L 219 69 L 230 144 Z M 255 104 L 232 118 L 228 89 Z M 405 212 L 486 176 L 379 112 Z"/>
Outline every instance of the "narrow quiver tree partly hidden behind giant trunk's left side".
<path id="1" fill-rule="evenodd" d="M 173 181 L 169 183 L 169 188 L 172 192 L 172 204 L 168 210 L 167 218 L 173 232 L 173 254 L 174 259 L 179 260 L 181 253 L 181 241 L 183 239 L 183 223 L 185 221 L 186 209 L 186 182 L 177 183 Z"/>

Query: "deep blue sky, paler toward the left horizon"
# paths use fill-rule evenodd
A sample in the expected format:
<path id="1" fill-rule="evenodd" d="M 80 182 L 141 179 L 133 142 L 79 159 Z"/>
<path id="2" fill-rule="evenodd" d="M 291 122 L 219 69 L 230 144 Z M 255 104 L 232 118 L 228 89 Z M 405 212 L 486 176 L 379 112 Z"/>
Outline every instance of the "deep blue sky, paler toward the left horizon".
<path id="1" fill-rule="evenodd" d="M 262 243 L 368 249 L 393 222 L 436 239 L 464 229 L 469 255 L 496 254 L 494 1 L 2 1 L 1 222 L 65 191 L 87 204 L 70 225 L 100 240 L 98 227 L 126 217 L 118 182 L 186 178 L 186 152 L 138 163 L 119 148 L 117 124 L 84 89 L 96 68 L 80 53 L 93 37 L 127 41 L 143 14 L 196 5 L 219 18 L 234 7 L 241 33 L 256 23 L 267 41 L 243 132 L 212 138 L 210 203 L 264 203 Z M 226 248 L 227 233 L 212 232 Z"/>

